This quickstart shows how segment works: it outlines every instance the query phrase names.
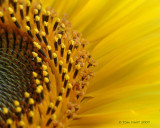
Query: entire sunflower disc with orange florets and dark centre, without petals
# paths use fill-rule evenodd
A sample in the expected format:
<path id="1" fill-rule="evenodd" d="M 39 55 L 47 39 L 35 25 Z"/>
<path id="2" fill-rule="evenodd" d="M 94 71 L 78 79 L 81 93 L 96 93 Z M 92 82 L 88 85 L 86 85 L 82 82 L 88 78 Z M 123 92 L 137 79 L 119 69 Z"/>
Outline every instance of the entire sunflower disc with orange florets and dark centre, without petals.
<path id="1" fill-rule="evenodd" d="M 0 124 L 63 127 L 74 118 L 93 72 L 87 41 L 37 1 L 0 9 Z"/>

